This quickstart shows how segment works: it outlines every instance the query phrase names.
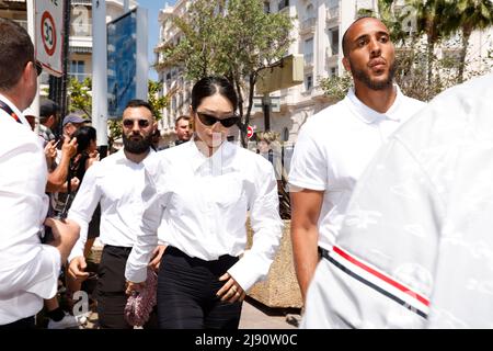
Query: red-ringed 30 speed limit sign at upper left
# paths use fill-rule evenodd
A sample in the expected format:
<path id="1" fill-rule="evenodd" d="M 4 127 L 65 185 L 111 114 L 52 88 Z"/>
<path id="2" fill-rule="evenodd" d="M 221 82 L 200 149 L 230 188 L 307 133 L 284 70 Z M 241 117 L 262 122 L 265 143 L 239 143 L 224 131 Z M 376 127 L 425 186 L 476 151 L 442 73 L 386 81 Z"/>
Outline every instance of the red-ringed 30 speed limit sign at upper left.
<path id="1" fill-rule="evenodd" d="M 49 73 L 61 76 L 61 29 L 65 1 L 34 1 L 36 58 Z"/>

